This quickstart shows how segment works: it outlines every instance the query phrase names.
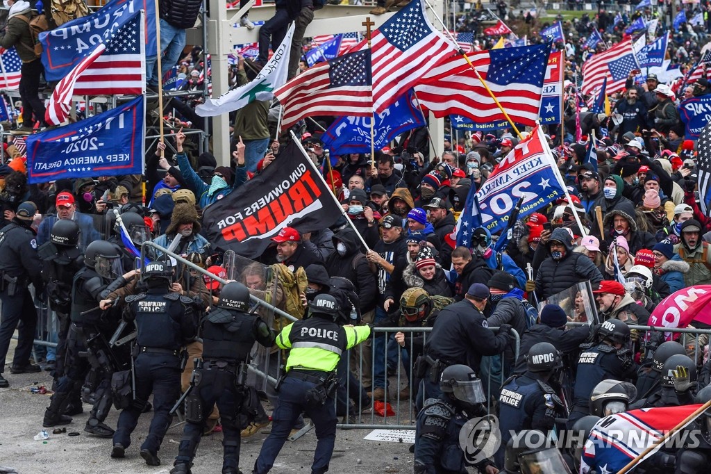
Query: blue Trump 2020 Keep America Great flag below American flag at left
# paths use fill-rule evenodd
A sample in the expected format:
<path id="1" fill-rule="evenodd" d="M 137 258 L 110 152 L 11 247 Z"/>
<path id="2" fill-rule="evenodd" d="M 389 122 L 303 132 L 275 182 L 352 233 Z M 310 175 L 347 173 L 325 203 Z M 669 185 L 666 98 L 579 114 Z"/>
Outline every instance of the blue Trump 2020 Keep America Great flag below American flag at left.
<path id="1" fill-rule="evenodd" d="M 28 182 L 143 174 L 144 96 L 27 137 Z"/>

